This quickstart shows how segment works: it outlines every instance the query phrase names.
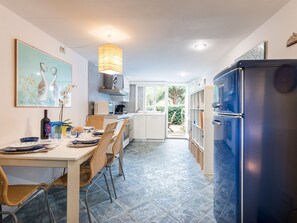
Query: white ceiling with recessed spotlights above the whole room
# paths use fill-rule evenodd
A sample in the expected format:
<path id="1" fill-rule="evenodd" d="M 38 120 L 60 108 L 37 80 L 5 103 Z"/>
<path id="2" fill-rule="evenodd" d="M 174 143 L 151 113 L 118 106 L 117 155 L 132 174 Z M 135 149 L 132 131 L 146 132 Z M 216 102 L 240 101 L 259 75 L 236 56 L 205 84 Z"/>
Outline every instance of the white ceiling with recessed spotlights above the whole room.
<path id="1" fill-rule="evenodd" d="M 0 0 L 65 46 L 97 64 L 89 32 L 112 25 L 130 36 L 123 74 L 132 80 L 186 82 L 208 74 L 215 61 L 289 0 Z M 194 49 L 207 42 L 203 51 Z M 76 48 L 78 47 L 78 48 Z M 67 48 L 66 48 L 67 50 Z M 186 76 L 181 77 L 181 72 Z"/>

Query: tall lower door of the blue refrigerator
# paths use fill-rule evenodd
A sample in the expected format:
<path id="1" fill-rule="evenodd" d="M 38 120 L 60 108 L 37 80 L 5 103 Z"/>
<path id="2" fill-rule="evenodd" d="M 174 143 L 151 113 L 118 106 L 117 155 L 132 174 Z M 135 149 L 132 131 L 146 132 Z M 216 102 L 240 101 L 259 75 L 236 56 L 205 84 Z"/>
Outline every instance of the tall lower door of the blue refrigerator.
<path id="1" fill-rule="evenodd" d="M 214 215 L 217 222 L 239 223 L 242 118 L 214 116 Z"/>

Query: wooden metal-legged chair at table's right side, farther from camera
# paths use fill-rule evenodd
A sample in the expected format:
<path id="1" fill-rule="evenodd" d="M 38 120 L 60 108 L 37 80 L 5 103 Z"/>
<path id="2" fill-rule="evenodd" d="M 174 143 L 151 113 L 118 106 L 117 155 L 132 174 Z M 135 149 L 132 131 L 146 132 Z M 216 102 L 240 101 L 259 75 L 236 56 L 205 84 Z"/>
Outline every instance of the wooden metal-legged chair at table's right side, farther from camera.
<path id="1" fill-rule="evenodd" d="M 106 158 L 107 158 L 106 168 L 109 170 L 111 184 L 112 184 L 114 195 L 115 195 L 116 199 L 117 199 L 117 193 L 116 193 L 115 186 L 114 186 L 114 181 L 113 181 L 113 177 L 112 177 L 112 173 L 111 173 L 111 167 L 115 163 L 116 160 L 119 160 L 119 165 L 120 165 L 124 180 L 126 180 L 125 173 L 123 170 L 122 160 L 120 157 L 120 151 L 121 151 L 121 149 L 123 149 L 122 148 L 123 147 L 123 136 L 124 136 L 126 127 L 128 126 L 128 123 L 129 123 L 129 120 L 125 119 L 122 124 L 122 127 L 121 127 L 121 129 L 120 129 L 120 131 L 112 145 L 112 152 L 106 153 Z"/>

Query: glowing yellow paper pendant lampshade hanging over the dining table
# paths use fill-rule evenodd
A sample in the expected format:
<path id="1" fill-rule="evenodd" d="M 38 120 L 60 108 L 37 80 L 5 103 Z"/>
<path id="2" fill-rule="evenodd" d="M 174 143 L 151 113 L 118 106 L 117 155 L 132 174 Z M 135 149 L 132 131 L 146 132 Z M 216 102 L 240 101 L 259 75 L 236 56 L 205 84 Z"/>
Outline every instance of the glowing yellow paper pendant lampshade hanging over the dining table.
<path id="1" fill-rule="evenodd" d="M 104 74 L 120 74 L 123 71 L 123 51 L 107 43 L 98 47 L 98 71 Z"/>

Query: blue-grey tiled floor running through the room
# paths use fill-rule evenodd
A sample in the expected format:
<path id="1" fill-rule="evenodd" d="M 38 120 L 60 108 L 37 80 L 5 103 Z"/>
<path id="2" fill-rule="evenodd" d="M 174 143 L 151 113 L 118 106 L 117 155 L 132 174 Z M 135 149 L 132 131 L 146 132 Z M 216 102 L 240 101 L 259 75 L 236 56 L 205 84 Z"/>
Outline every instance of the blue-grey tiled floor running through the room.
<path id="1" fill-rule="evenodd" d="M 177 139 L 132 142 L 124 154 L 125 181 L 117 175 L 117 164 L 113 166 L 118 199 L 110 203 L 103 177 L 90 190 L 93 222 L 215 223 L 212 178 L 202 174 L 187 145 L 186 140 Z M 108 180 L 110 184 L 109 176 Z M 56 221 L 66 222 L 66 191 L 51 189 L 49 201 Z M 42 194 L 17 216 L 20 222 L 49 222 Z M 80 222 L 88 222 L 83 194 Z"/>

